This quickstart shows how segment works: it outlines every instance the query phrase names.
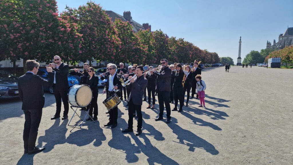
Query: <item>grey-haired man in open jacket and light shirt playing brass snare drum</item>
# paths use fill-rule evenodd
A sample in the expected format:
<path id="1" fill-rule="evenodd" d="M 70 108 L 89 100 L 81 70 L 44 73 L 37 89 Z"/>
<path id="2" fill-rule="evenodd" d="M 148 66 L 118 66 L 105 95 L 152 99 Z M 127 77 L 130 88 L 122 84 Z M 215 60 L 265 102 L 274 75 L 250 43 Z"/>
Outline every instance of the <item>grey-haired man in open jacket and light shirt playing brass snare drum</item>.
<path id="1" fill-rule="evenodd" d="M 111 96 L 113 92 L 116 92 L 117 96 L 120 96 L 119 89 L 122 88 L 120 78 L 116 73 L 117 66 L 115 64 L 108 65 L 110 75 L 108 76 L 107 83 L 105 84 L 103 93 L 107 92 L 107 98 Z M 104 126 L 112 125 L 111 128 L 115 128 L 117 126 L 117 118 L 118 118 L 118 107 L 114 107 L 109 111 L 109 122 Z"/>

